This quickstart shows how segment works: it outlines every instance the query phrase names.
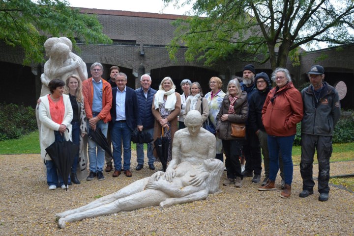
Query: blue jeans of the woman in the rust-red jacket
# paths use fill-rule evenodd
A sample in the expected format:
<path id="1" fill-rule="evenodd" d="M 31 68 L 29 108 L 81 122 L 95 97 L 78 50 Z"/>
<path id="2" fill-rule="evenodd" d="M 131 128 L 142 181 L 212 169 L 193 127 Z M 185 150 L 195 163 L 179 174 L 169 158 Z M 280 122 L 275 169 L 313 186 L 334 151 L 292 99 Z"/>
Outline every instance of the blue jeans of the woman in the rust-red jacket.
<path id="1" fill-rule="evenodd" d="M 269 149 L 269 180 L 275 181 L 279 170 L 279 151 L 283 158 L 283 171 L 285 184 L 293 182 L 293 159 L 292 150 L 295 134 L 286 137 L 268 135 Z"/>

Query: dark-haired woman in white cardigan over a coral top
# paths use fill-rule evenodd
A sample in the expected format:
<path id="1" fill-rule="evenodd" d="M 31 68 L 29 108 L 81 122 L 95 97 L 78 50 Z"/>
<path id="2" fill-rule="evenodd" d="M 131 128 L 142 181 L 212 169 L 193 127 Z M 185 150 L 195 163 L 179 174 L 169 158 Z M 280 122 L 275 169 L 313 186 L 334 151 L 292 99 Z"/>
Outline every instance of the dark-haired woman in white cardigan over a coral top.
<path id="1" fill-rule="evenodd" d="M 67 186 L 63 184 L 62 177 L 58 175 L 57 168 L 49 157 L 46 155 L 46 148 L 56 140 L 69 140 L 71 130 L 71 120 L 73 111 L 68 95 L 63 94 L 65 83 L 61 79 L 53 79 L 48 84 L 51 94 L 40 98 L 38 108 L 39 120 L 41 121 L 40 129 L 40 148 L 41 157 L 47 168 L 47 184 L 49 190 L 56 189 L 59 185 L 65 189 Z"/>

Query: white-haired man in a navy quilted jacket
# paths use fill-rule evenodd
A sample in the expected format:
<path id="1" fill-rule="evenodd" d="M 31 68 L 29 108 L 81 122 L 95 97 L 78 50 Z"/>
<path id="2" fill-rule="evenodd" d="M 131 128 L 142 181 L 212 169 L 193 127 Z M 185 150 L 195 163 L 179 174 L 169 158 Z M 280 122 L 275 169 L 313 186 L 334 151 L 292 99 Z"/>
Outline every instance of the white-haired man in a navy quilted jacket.
<path id="1" fill-rule="evenodd" d="M 136 89 L 135 92 L 138 98 L 140 118 L 144 126 L 143 132 L 145 134 L 150 134 L 151 137 L 153 137 L 155 118 L 152 115 L 151 107 L 153 103 L 153 96 L 155 95 L 156 90 L 150 87 L 151 77 L 147 74 L 142 75 L 140 78 L 140 83 L 141 88 Z M 148 166 L 150 170 L 154 170 L 155 166 L 153 163 L 155 162 L 155 157 L 153 156 L 153 142 L 148 143 L 147 146 Z M 136 149 L 138 165 L 135 169 L 141 170 L 144 167 L 144 144 L 137 143 Z"/>

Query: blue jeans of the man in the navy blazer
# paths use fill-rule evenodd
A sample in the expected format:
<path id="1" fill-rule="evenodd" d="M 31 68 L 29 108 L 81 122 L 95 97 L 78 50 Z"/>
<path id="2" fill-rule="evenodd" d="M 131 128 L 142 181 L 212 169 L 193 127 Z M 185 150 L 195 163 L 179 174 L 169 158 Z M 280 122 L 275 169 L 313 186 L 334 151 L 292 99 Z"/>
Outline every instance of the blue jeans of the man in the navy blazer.
<path id="1" fill-rule="evenodd" d="M 115 163 L 115 169 L 121 169 L 121 154 L 123 144 L 123 169 L 130 170 L 130 158 L 131 158 L 131 134 L 132 130 L 127 126 L 126 122 L 115 121 L 111 130 L 111 140 L 113 144 L 113 161 Z"/>

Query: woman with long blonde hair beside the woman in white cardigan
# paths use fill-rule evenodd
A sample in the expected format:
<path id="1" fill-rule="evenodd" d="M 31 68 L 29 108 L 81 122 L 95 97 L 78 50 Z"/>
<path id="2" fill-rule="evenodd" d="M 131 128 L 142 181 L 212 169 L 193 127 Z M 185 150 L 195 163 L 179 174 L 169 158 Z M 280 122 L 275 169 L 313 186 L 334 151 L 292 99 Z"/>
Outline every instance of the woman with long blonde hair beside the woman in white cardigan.
<path id="1" fill-rule="evenodd" d="M 73 110 L 73 119 L 71 121 L 71 137 L 73 143 L 80 146 L 79 152 L 74 158 L 71 166 L 70 179 L 74 184 L 80 184 L 77 178 L 76 170 L 79 165 L 80 171 L 86 171 L 87 155 L 84 144 L 84 136 L 87 134 L 86 113 L 84 109 L 84 96 L 82 94 L 82 82 L 76 75 L 69 75 L 65 80 L 64 94 L 69 95 L 71 107 Z M 85 172 L 86 174 L 86 172 Z"/>

